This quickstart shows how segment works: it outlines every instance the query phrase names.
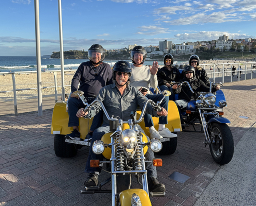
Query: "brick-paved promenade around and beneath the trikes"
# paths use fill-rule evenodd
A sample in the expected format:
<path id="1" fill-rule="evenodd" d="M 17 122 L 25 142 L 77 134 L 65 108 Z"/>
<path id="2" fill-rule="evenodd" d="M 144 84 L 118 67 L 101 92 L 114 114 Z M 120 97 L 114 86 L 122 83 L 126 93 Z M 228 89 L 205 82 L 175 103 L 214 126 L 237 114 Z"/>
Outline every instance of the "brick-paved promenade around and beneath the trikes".
<path id="1" fill-rule="evenodd" d="M 222 90 L 228 102 L 224 116 L 231 121 L 237 144 L 256 122 L 256 82 L 225 83 Z M 80 194 L 88 148 L 80 149 L 74 158 L 56 157 L 51 115 L 52 110 L 44 110 L 41 117 L 37 113 L 0 116 L 0 205 L 111 205 L 110 194 Z M 157 170 L 167 192 L 165 197 L 151 198 L 153 205 L 188 206 L 200 197 L 219 168 L 203 140 L 201 133 L 180 132 L 173 155 L 156 155 L 163 160 Z M 174 171 L 190 178 L 185 183 L 174 181 L 168 177 Z M 103 171 L 99 179 L 107 177 Z M 133 184 L 138 185 L 134 180 Z"/>

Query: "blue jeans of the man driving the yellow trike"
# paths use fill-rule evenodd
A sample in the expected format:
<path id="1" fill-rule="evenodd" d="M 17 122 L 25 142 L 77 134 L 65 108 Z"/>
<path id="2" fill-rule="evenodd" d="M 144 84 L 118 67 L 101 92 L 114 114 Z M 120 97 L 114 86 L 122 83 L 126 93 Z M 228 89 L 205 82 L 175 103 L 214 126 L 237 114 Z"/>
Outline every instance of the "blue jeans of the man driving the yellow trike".
<path id="1" fill-rule="evenodd" d="M 138 129 L 140 132 L 144 133 L 144 131 L 141 129 L 141 127 L 139 125 L 138 125 Z M 108 124 L 103 124 L 101 127 L 99 127 L 98 129 L 96 129 L 94 131 L 93 139 L 92 139 L 91 146 L 89 149 L 88 159 L 87 159 L 86 166 L 85 166 L 85 173 L 93 173 L 93 174 L 97 174 L 97 175 L 100 174 L 101 168 L 91 167 L 90 162 L 91 162 L 91 160 L 103 161 L 104 157 L 103 157 L 103 155 L 95 155 L 95 153 L 92 150 L 92 146 L 93 146 L 94 141 L 100 140 L 101 137 L 106 133 L 109 133 L 109 125 Z M 147 136 L 147 140 L 149 141 L 148 136 Z M 154 152 L 150 148 L 147 149 L 145 158 L 146 158 L 146 160 L 153 160 L 153 158 L 155 158 Z M 146 163 L 146 169 L 147 169 L 147 177 L 148 178 L 157 179 L 156 167 L 153 166 L 152 162 Z"/>

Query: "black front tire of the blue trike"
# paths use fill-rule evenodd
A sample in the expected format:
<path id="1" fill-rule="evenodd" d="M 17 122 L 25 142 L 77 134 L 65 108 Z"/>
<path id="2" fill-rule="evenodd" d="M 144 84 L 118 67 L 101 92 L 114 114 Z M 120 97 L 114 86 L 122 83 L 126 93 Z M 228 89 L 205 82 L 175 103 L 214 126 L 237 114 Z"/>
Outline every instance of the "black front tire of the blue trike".
<path id="1" fill-rule="evenodd" d="M 227 124 L 213 123 L 212 131 L 215 143 L 209 145 L 210 153 L 215 162 L 220 165 L 228 164 L 234 155 L 234 140 L 232 132 Z"/>

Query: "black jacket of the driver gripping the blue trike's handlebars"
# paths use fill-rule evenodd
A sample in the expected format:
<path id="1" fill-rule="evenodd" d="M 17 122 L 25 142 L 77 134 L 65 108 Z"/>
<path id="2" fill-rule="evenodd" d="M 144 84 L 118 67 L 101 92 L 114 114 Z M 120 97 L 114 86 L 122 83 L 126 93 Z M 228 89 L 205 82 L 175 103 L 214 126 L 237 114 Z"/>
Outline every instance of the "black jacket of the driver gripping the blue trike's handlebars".
<path id="1" fill-rule="evenodd" d="M 188 80 L 187 78 L 183 78 L 180 82 L 187 81 L 189 82 L 192 90 L 194 92 L 209 92 L 210 88 L 205 85 L 203 81 L 194 77 L 192 80 Z M 212 88 L 212 92 L 216 92 L 215 88 Z M 178 87 L 176 90 L 173 90 L 175 94 L 179 94 L 179 99 L 186 99 L 190 101 L 193 98 L 193 93 L 190 91 L 187 83 L 184 83 L 182 86 Z"/>

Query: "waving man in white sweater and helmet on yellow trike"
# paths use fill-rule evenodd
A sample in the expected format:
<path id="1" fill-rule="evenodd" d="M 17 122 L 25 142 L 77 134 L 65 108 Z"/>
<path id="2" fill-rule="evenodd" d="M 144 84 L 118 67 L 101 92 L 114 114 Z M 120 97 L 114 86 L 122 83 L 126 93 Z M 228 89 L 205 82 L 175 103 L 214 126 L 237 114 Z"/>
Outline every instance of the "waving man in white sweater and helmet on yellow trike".
<path id="1" fill-rule="evenodd" d="M 149 87 L 157 87 L 157 71 L 158 62 L 154 61 L 152 67 L 145 66 L 144 61 L 146 60 L 147 53 L 143 46 L 135 46 L 131 51 L 131 85 L 139 89 L 143 95 L 148 99 L 152 99 L 157 102 L 163 97 L 162 94 L 152 95 L 149 92 Z M 169 97 L 165 97 L 162 101 L 161 107 L 168 111 Z M 154 127 L 153 119 L 149 114 L 144 115 L 145 127 L 149 128 L 150 138 L 162 139 L 164 138 L 175 138 L 177 134 L 173 134 L 168 128 L 165 127 L 168 124 L 167 116 L 159 118 L 158 131 Z"/>

